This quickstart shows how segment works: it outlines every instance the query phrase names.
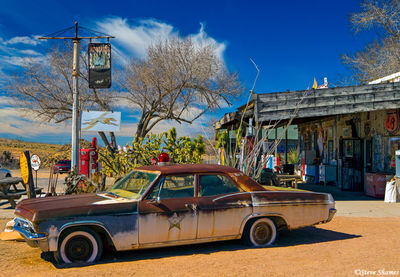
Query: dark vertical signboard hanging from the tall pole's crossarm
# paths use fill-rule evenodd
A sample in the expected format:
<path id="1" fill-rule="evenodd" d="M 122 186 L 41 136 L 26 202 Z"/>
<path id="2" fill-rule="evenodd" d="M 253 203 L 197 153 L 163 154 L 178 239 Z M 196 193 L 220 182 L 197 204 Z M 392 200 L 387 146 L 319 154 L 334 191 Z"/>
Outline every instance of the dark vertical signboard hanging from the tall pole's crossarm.
<path id="1" fill-rule="evenodd" d="M 89 43 L 89 88 L 111 87 L 111 44 Z"/>

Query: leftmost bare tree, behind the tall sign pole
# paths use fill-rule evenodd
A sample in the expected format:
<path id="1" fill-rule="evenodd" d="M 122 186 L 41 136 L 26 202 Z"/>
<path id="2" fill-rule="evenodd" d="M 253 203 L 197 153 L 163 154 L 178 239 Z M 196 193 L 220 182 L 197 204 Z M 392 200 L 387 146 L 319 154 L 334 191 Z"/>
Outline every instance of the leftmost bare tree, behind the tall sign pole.
<path id="1" fill-rule="evenodd" d="M 89 89 L 87 55 L 81 54 L 79 82 L 79 110 L 110 110 L 111 94 Z M 43 63 L 27 62 L 14 74 L 7 87 L 16 103 L 27 113 L 43 121 L 64 122 L 72 118 L 72 49 L 71 46 L 54 48 Z M 99 132 L 110 151 L 107 137 Z M 111 133 L 115 146 L 115 136 Z"/>

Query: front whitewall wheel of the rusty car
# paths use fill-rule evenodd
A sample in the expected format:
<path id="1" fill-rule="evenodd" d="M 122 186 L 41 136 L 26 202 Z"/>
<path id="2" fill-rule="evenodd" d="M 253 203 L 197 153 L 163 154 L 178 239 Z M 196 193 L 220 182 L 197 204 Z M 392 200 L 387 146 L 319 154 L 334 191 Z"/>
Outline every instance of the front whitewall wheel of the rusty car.
<path id="1" fill-rule="evenodd" d="M 60 237 L 56 260 L 59 263 L 93 263 L 103 246 L 99 235 L 89 228 L 72 229 Z"/>

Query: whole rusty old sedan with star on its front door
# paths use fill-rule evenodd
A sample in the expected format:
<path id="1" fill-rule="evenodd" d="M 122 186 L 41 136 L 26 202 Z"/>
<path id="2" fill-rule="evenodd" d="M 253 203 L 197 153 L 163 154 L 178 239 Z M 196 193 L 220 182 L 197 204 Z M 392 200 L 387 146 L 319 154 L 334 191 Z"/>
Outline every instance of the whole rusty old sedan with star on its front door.
<path id="1" fill-rule="evenodd" d="M 21 201 L 14 230 L 60 263 L 133 250 L 242 239 L 274 243 L 282 229 L 329 222 L 330 194 L 263 187 L 222 165 L 138 167 L 108 191 Z"/>

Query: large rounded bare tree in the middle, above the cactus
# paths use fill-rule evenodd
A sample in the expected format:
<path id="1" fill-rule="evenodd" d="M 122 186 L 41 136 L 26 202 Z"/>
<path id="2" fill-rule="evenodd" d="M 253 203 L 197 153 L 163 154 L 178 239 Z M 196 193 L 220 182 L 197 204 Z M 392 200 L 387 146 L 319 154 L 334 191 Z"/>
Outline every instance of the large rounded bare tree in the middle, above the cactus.
<path id="1" fill-rule="evenodd" d="M 227 72 L 211 44 L 172 39 L 152 45 L 146 59 L 134 59 L 119 74 L 122 96 L 141 116 L 136 137 L 157 123 L 192 123 L 239 95 L 236 74 Z"/>

